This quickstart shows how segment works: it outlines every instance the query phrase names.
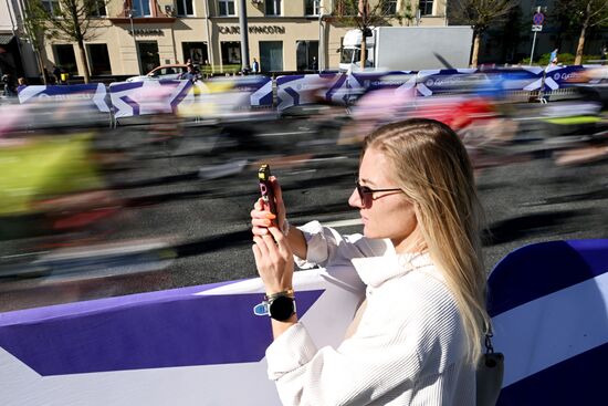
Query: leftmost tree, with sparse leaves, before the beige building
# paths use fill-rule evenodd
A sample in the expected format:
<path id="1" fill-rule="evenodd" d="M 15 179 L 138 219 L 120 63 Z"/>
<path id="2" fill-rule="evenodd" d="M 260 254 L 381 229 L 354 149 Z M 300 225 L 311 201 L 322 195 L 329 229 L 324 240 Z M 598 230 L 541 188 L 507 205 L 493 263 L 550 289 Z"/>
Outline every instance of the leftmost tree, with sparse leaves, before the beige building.
<path id="1" fill-rule="evenodd" d="M 96 17 L 105 14 L 109 0 L 55 0 L 42 2 L 30 0 L 29 8 L 34 14 L 41 13 L 46 20 L 48 39 L 61 39 L 78 45 L 81 63 L 84 67 L 84 83 L 91 81 L 84 42 L 96 37 Z"/>

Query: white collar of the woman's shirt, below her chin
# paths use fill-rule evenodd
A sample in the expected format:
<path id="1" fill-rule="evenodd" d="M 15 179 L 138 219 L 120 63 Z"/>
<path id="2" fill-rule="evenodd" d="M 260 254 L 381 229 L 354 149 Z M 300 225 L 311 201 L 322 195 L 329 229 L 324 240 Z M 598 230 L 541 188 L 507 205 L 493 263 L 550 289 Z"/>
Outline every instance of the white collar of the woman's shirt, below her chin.
<path id="1" fill-rule="evenodd" d="M 363 282 L 371 288 L 377 288 L 389 279 L 402 277 L 416 269 L 433 264 L 428 252 L 398 254 L 395 252 L 395 248 L 381 257 L 353 258 L 352 261 Z"/>

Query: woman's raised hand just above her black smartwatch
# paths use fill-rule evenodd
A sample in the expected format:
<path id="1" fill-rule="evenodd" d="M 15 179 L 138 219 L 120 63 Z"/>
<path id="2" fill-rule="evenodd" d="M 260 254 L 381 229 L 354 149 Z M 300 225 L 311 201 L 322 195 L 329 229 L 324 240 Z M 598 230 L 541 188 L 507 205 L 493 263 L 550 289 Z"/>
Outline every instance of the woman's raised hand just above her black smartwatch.
<path id="1" fill-rule="evenodd" d="M 276 227 L 268 228 L 270 233 L 253 236 L 252 247 L 258 273 L 264 282 L 266 294 L 273 294 L 292 289 L 293 253 L 287 239 Z"/>

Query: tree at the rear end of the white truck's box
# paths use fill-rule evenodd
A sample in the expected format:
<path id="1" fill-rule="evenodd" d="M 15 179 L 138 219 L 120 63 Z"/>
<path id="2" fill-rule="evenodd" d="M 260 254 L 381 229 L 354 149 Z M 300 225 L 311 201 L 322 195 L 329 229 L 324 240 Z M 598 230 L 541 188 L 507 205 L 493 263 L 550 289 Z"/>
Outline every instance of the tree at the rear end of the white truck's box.
<path id="1" fill-rule="evenodd" d="M 520 0 L 457 0 L 449 9 L 450 21 L 473 28 L 471 65 L 478 65 L 481 35 L 492 25 L 509 19 Z"/>

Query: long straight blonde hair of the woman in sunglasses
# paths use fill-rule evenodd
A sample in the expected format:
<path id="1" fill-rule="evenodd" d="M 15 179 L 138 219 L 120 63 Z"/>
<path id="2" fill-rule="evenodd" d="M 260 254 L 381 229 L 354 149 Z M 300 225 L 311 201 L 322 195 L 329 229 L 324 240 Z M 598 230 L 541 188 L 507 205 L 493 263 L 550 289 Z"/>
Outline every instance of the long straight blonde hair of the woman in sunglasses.
<path id="1" fill-rule="evenodd" d="M 464 145 L 447 125 L 411 118 L 369 134 L 368 148 L 381 152 L 397 186 L 413 201 L 420 232 L 433 262 L 457 299 L 469 340 L 469 360 L 482 352 L 490 316 L 481 249 L 483 210 Z"/>

